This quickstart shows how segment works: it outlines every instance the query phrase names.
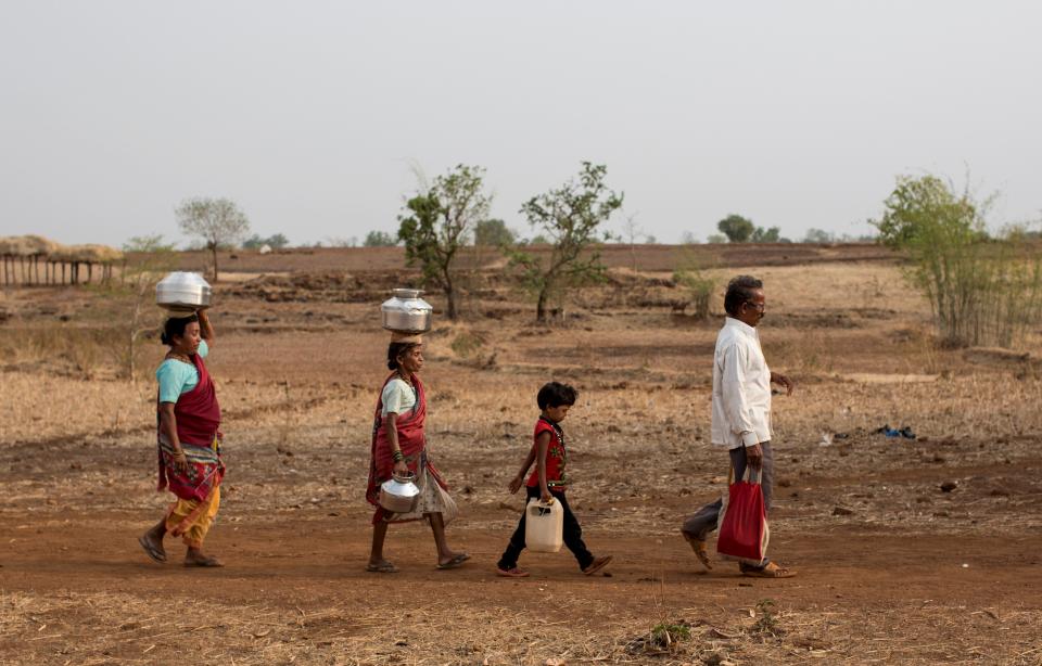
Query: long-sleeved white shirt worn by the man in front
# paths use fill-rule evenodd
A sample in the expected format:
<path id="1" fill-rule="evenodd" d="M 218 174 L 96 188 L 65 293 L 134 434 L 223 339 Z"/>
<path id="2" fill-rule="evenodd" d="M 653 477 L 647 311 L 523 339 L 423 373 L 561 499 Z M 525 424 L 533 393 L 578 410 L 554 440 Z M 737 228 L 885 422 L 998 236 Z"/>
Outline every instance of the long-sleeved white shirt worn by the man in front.
<path id="1" fill-rule="evenodd" d="M 713 444 L 736 449 L 771 439 L 771 370 L 760 335 L 728 317 L 713 355 Z"/>

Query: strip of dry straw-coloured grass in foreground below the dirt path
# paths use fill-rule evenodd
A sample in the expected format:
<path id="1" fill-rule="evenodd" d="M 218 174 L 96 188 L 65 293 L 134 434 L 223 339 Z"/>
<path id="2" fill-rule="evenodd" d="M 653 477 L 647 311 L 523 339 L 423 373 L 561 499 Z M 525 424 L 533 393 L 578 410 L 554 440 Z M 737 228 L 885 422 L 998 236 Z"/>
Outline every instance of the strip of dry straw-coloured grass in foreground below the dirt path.
<path id="1" fill-rule="evenodd" d="M 122 593 L 0 594 L 0 646 L 39 664 L 1038 664 L 1042 643 L 1016 606 L 780 610 L 773 631 L 753 607 L 675 609 L 648 627 L 624 614 L 590 626 L 531 610 L 401 605 L 223 604 Z M 445 628 L 449 630 L 446 632 Z M 672 629 L 666 640 L 666 628 Z"/>

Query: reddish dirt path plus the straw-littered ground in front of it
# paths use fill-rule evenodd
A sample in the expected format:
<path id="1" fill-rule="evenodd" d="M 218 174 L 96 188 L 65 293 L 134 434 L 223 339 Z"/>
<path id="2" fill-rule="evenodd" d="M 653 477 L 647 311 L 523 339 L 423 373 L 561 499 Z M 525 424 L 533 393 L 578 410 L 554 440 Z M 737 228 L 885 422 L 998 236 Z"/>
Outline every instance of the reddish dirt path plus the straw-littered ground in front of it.
<path id="1" fill-rule="evenodd" d="M 378 576 L 363 571 L 367 526 L 317 514 L 269 522 L 243 515 L 218 525 L 209 547 L 228 564 L 219 571 L 180 566 L 181 549 L 170 540 L 170 563 L 149 561 L 132 528 L 148 515 L 63 512 L 29 528 L 4 520 L 0 542 L 15 546 L 0 551 L 5 615 L 25 611 L 21 626 L 4 623 L 2 653 L 48 663 L 162 663 L 187 649 L 207 662 L 217 655 L 207 652 L 213 639 L 237 663 L 275 656 L 276 640 L 277 662 L 295 654 L 296 663 L 497 663 L 508 655 L 542 663 L 562 650 L 576 661 L 598 651 L 643 661 L 661 657 L 620 645 L 656 624 L 684 620 L 695 629 L 672 655 L 681 661 L 716 654 L 800 663 L 816 652 L 851 663 L 1037 663 L 1042 654 L 1031 652 L 1037 633 L 1011 632 L 1025 618 L 1034 626 L 1042 618 L 1034 536 L 778 534 L 775 551 L 800 576 L 774 581 L 737 576 L 726 563 L 701 574 L 679 538 L 587 530 L 595 552 L 617 558 L 610 577 L 582 576 L 568 553 L 528 554 L 522 563 L 533 577 L 518 581 L 492 573 L 506 530 L 457 526 L 454 540 L 474 559 L 439 572 L 425 530 L 402 526 L 389 548 L 402 573 Z M 782 638 L 752 629 L 765 599 L 775 604 Z M 497 630 L 482 631 L 492 617 Z M 541 626 L 556 638 L 521 650 L 518 637 L 542 636 Z M 471 646 L 473 654 L 460 652 Z"/>

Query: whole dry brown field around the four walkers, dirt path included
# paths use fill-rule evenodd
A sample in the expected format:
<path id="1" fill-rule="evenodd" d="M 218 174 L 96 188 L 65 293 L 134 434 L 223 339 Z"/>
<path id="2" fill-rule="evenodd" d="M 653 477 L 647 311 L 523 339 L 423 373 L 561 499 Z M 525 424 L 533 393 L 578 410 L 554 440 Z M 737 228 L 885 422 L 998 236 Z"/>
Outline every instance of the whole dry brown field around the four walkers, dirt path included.
<path id="1" fill-rule="evenodd" d="M 708 441 L 721 298 L 710 321 L 676 311 L 682 251 L 639 248 L 637 271 L 614 251 L 610 282 L 568 294 L 548 325 L 475 260 L 465 319 L 437 320 L 423 371 L 461 510 L 449 539 L 473 559 L 436 571 L 429 529 L 392 526 L 395 575 L 364 571 L 364 488 L 379 303 L 415 276 L 393 249 L 242 254 L 215 289 L 208 360 L 229 469 L 207 540 L 220 569 L 180 566 L 171 539 L 156 564 L 136 542 L 169 501 L 154 490 L 156 338 L 131 382 L 115 369 L 125 303 L 0 295 L 0 663 L 1042 663 L 1039 335 L 1017 353 L 939 347 L 873 246 L 702 252 L 721 287 L 764 279 L 764 350 L 797 382 L 774 405 L 771 543 L 796 578 L 703 573 L 677 531 L 727 474 Z M 531 578 L 498 578 L 522 503 L 505 487 L 551 379 L 581 392 L 569 498 L 614 562 L 585 577 L 567 551 L 525 553 Z"/>

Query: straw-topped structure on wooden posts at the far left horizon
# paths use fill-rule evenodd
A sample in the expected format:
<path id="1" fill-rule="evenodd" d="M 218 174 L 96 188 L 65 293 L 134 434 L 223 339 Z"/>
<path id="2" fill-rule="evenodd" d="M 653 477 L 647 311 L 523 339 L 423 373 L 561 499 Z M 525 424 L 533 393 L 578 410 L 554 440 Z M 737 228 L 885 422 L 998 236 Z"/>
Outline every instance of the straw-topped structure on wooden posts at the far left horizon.
<path id="1" fill-rule="evenodd" d="M 113 266 L 124 256 L 106 245 L 62 245 L 39 235 L 18 235 L 0 236 L 0 260 L 3 285 L 90 284 L 96 272 L 97 282 L 107 284 Z"/>

